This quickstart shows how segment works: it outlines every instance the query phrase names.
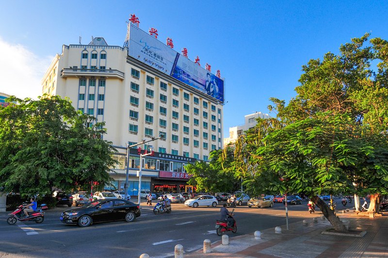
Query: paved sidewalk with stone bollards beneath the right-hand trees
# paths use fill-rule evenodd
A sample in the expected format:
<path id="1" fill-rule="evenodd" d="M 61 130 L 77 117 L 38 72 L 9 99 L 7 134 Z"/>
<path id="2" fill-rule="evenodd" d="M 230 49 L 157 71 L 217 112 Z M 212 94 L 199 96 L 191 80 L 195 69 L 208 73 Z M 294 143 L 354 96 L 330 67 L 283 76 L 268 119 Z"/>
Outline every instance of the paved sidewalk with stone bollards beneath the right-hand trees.
<path id="1" fill-rule="evenodd" d="M 318 222 L 309 219 L 308 224 L 292 223 L 289 230 L 281 226 L 281 234 L 276 234 L 275 228 L 263 230 L 261 240 L 255 240 L 253 233 L 238 237 L 228 233 L 229 245 L 222 245 L 220 237 L 220 241 L 211 244 L 210 254 L 201 249 L 185 253 L 184 257 L 388 257 L 388 216 L 370 219 L 354 212 L 337 215 L 350 221 L 350 230 L 367 231 L 366 235 L 362 238 L 323 235 L 322 231 L 332 226 L 317 215 Z"/>

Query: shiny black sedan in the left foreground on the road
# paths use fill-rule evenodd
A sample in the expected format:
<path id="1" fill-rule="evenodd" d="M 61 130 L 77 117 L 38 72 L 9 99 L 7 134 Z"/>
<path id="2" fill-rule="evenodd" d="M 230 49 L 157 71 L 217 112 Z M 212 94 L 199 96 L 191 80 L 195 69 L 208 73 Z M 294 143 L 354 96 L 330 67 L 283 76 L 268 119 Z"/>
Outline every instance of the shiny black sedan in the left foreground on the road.
<path id="1" fill-rule="evenodd" d="M 99 199 L 85 206 L 62 212 L 61 222 L 89 226 L 96 222 L 126 220 L 134 221 L 140 216 L 140 207 L 122 199 Z"/>

